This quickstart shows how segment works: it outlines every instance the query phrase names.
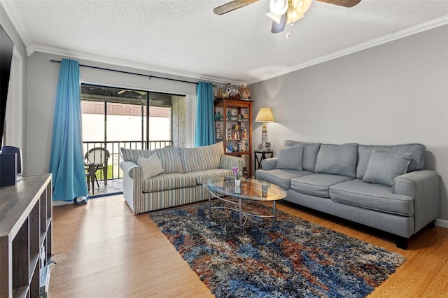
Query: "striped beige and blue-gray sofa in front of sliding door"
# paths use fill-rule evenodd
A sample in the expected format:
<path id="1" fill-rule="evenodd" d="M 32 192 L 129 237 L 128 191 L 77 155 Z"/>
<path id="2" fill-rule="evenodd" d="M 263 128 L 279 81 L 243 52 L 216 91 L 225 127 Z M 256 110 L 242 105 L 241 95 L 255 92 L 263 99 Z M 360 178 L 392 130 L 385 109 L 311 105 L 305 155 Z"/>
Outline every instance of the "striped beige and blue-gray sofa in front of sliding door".
<path id="1" fill-rule="evenodd" d="M 141 160 L 157 155 L 162 173 L 143 178 Z M 155 150 L 120 148 L 123 161 L 123 196 L 134 214 L 209 199 L 202 183 L 211 177 L 232 176 L 244 159 L 224 154 L 223 143 L 196 148 L 165 147 Z"/>

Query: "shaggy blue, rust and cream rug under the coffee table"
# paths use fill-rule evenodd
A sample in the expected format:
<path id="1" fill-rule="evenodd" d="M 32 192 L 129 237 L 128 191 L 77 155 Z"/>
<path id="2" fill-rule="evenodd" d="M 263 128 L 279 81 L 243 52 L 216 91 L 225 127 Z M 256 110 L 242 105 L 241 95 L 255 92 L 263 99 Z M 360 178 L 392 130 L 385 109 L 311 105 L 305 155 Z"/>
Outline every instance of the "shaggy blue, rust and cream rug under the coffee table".
<path id="1" fill-rule="evenodd" d="M 228 206 L 212 201 L 212 206 Z M 243 211 L 272 215 L 245 201 Z M 277 211 L 247 218 L 208 204 L 155 211 L 158 227 L 216 297 L 365 297 L 405 257 Z"/>

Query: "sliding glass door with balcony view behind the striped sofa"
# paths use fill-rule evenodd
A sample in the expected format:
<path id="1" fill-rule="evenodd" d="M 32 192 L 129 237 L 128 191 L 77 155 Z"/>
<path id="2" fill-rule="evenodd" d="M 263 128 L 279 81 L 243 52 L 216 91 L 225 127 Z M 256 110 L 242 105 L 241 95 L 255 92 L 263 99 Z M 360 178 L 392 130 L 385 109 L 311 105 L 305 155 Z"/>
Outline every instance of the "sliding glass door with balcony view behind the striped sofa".
<path id="1" fill-rule="evenodd" d="M 155 149 L 173 144 L 172 98 L 171 94 L 81 85 L 84 153 L 106 148 L 110 154 L 107 178 L 123 178 L 120 147 Z M 98 171 L 97 178 L 104 179 L 99 175 Z"/>

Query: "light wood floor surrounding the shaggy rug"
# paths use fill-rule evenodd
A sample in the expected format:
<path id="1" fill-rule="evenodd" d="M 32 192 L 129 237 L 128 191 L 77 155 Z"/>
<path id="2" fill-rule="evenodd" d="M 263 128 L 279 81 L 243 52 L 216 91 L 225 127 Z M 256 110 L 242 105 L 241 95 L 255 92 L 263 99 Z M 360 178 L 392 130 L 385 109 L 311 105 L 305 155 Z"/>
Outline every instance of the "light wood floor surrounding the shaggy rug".
<path id="1" fill-rule="evenodd" d="M 322 213 L 279 203 L 305 220 L 407 257 L 370 297 L 448 297 L 448 229 L 423 229 L 408 250 L 392 236 Z M 132 215 L 123 196 L 53 208 L 48 297 L 213 297 L 148 213 Z"/>

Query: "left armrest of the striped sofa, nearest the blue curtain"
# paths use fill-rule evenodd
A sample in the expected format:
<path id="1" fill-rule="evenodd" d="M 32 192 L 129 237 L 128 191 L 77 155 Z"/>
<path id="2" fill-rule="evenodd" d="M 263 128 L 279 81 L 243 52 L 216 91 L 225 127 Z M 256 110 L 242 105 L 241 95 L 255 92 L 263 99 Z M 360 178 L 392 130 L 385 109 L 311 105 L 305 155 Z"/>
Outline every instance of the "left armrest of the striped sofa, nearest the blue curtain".
<path id="1" fill-rule="evenodd" d="M 143 197 L 141 167 L 134 162 L 120 162 L 123 170 L 123 197 L 134 214 L 141 213 Z"/>

